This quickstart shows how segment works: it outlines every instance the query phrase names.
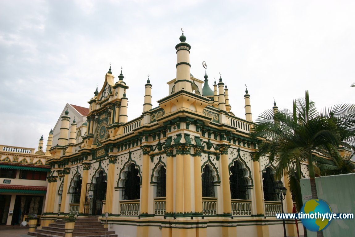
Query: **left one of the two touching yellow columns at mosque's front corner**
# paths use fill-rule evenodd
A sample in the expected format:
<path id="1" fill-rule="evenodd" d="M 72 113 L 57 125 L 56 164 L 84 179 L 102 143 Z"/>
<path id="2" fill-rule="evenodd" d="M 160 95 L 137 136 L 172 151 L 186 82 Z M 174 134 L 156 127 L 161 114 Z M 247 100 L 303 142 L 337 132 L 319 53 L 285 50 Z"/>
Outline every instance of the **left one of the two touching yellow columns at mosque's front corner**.
<path id="1" fill-rule="evenodd" d="M 175 212 L 184 212 L 184 153 L 183 146 L 176 147 L 175 157 Z"/>

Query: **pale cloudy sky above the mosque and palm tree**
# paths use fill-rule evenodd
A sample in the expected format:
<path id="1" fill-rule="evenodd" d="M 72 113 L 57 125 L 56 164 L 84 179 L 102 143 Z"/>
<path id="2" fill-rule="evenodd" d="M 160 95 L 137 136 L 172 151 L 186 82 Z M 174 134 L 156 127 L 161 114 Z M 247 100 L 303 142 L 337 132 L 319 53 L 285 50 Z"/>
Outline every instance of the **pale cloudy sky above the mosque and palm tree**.
<path id="1" fill-rule="evenodd" d="M 194 77 L 219 73 L 231 111 L 253 120 L 294 99 L 321 109 L 353 103 L 355 1 L 0 0 L 0 144 L 37 148 L 68 102 L 88 107 L 111 63 L 129 86 L 128 120 L 141 115 L 150 74 L 153 107 L 176 77 L 181 27 Z"/>

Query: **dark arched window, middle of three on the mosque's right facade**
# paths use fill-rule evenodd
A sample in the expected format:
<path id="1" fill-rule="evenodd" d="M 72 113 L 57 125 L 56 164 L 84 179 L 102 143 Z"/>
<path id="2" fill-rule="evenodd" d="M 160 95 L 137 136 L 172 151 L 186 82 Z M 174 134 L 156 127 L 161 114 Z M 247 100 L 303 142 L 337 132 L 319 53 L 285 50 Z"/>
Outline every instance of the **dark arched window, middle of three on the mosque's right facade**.
<path id="1" fill-rule="evenodd" d="M 245 177 L 245 171 L 242 169 L 238 161 L 234 161 L 230 167 L 232 175 L 230 181 L 230 196 L 232 199 L 248 199 L 248 189 Z"/>

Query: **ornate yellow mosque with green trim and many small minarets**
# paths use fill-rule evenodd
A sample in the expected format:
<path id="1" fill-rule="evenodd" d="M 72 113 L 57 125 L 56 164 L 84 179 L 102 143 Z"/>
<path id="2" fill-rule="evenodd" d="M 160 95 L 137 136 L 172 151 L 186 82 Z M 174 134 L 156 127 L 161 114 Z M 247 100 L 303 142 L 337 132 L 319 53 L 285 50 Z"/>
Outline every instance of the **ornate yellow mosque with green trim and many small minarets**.
<path id="1" fill-rule="evenodd" d="M 111 66 L 81 113 L 87 120 L 76 115 L 80 128 L 67 105 L 54 128 L 58 144 L 47 146 L 41 226 L 69 213 L 105 222 L 108 213 L 108 230 L 118 236 L 283 235 L 282 220 L 275 218 L 281 201 L 274 164 L 268 157 L 252 160 L 261 140 L 249 137 L 249 92 L 245 118 L 238 118 L 222 77 L 211 89 L 207 72 L 204 81 L 190 73 L 191 45 L 184 33 L 175 49 L 176 78 L 167 82 L 167 96 L 152 108 L 148 78 L 140 117 L 127 120 L 129 84 L 122 70 L 115 79 Z M 302 169 L 307 174 L 307 166 Z M 292 212 L 290 192 L 283 206 Z M 293 220 L 286 221 L 286 231 L 297 235 Z"/>

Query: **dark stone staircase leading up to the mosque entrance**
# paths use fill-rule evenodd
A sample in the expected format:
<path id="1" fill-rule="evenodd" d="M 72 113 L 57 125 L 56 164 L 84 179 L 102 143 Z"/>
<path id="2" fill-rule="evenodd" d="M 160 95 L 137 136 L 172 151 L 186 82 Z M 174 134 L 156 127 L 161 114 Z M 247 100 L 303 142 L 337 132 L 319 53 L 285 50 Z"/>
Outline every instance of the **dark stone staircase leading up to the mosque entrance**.
<path id="1" fill-rule="evenodd" d="M 37 237 L 54 237 L 65 236 L 65 221 L 55 221 L 49 226 L 43 226 L 41 229 L 36 229 L 34 232 L 28 232 L 30 236 Z M 105 228 L 97 217 L 77 218 L 73 231 L 73 237 L 105 237 Z M 117 237 L 115 231 L 106 231 L 107 237 Z"/>

